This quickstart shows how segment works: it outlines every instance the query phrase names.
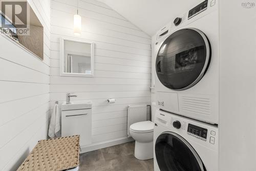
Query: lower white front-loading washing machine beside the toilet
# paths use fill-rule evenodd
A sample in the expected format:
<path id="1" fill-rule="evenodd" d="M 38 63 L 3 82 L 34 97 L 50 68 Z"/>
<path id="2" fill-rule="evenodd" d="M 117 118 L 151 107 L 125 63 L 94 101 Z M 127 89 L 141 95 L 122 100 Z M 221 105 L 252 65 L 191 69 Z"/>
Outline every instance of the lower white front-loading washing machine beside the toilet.
<path id="1" fill-rule="evenodd" d="M 155 171 L 217 171 L 218 127 L 157 110 Z"/>

